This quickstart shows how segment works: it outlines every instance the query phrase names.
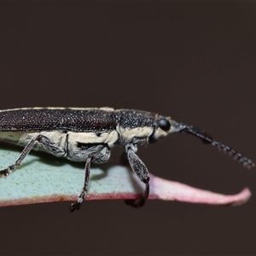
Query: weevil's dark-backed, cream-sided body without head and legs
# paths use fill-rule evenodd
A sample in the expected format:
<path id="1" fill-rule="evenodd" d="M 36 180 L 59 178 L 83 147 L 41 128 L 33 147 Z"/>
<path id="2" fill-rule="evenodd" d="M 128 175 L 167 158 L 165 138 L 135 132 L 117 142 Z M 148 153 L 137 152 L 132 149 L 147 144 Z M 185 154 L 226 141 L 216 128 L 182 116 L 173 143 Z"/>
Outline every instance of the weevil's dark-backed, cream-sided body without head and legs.
<path id="1" fill-rule="evenodd" d="M 113 108 L 20 108 L 0 111 L 0 140 L 25 147 L 39 134 L 32 149 L 68 160 L 84 161 L 102 148 L 148 142 L 166 132 L 157 130 L 154 113 Z"/>

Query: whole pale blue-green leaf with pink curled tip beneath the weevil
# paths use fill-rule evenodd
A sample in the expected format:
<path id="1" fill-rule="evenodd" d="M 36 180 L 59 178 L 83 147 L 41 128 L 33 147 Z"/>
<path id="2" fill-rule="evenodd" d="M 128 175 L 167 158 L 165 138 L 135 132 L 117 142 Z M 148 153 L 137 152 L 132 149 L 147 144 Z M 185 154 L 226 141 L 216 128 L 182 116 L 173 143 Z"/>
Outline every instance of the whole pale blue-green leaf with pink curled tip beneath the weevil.
<path id="1" fill-rule="evenodd" d="M 0 150 L 0 170 L 18 158 L 20 150 Z M 50 201 L 75 201 L 84 185 L 84 163 L 73 163 L 48 154 L 29 154 L 8 177 L 0 178 L 0 207 Z M 86 200 L 134 199 L 144 185 L 124 166 L 94 166 L 90 172 Z M 213 205 L 239 205 L 251 193 L 221 195 L 168 181 L 150 174 L 149 199 L 185 201 Z"/>

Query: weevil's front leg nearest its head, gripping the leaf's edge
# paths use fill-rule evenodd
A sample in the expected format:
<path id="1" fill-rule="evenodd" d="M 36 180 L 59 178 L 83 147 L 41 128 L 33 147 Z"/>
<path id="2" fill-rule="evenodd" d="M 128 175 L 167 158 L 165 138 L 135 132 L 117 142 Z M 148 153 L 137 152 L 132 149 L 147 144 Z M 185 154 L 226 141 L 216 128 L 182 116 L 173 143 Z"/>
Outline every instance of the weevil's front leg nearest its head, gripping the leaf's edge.
<path id="1" fill-rule="evenodd" d="M 131 205 L 132 207 L 143 207 L 149 195 L 148 168 L 145 166 L 143 161 L 137 156 L 137 154 L 135 154 L 135 152 L 137 151 L 137 146 L 133 144 L 128 144 L 125 146 L 125 150 L 132 171 L 136 173 L 137 177 L 143 183 L 145 183 L 143 196 L 135 200 L 125 200 L 125 203 Z"/>

